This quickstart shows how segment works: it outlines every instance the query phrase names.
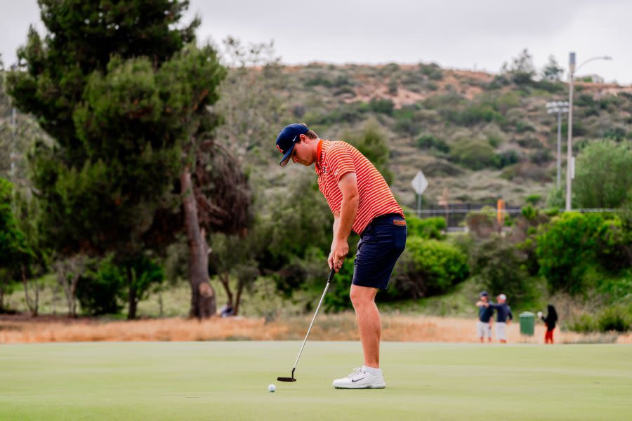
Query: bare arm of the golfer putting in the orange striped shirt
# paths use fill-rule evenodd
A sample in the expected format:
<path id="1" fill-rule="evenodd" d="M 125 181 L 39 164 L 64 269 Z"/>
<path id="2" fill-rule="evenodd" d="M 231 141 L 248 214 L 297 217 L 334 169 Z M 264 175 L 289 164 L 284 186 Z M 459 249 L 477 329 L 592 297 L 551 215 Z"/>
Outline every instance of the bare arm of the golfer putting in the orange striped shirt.
<path id="1" fill-rule="evenodd" d="M 343 199 L 340 212 L 334 213 L 334 241 L 331 242 L 331 253 L 329 254 L 329 267 L 338 269 L 342 267 L 343 260 L 349 253 L 349 234 L 355 215 L 357 215 L 357 204 L 359 197 L 357 194 L 357 178 L 355 173 L 346 173 L 338 181 Z"/>

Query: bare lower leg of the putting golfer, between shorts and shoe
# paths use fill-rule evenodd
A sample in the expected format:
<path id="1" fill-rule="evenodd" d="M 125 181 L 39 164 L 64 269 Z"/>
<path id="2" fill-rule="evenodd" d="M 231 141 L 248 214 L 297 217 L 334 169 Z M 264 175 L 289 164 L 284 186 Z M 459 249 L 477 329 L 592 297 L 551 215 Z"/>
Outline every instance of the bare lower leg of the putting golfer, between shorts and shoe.
<path id="1" fill-rule="evenodd" d="M 364 365 L 380 368 L 380 335 L 382 325 L 380 313 L 375 305 L 378 288 L 367 286 L 351 286 L 351 302 L 355 309 L 357 327 L 360 330 L 360 341 L 364 351 Z"/>

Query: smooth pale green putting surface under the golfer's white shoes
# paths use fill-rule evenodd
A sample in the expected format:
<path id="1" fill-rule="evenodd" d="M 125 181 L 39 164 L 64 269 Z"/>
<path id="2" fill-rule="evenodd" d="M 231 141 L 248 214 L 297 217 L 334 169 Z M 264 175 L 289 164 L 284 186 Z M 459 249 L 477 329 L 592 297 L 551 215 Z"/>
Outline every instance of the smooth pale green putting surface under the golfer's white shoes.
<path id="1" fill-rule="evenodd" d="M 335 390 L 360 345 L 0 345 L 1 420 L 630 420 L 628 345 L 382 345 L 383 390 Z M 277 392 L 268 392 L 275 383 Z"/>

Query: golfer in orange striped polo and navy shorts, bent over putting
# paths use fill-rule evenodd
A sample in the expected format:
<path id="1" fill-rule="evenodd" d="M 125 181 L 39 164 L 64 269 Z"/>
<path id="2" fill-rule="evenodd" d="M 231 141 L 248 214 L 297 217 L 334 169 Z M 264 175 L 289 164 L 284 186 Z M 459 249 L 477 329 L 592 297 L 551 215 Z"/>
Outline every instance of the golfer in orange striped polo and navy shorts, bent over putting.
<path id="1" fill-rule="evenodd" d="M 346 142 L 318 138 L 305 124 L 290 124 L 277 137 L 285 166 L 291 159 L 315 165 L 318 188 L 334 213 L 330 269 L 342 267 L 351 230 L 360 234 L 350 298 L 364 352 L 364 366 L 334 380 L 337 389 L 382 389 L 378 290 L 386 290 L 397 258 L 406 246 L 406 221 L 390 188 L 373 164 Z"/>

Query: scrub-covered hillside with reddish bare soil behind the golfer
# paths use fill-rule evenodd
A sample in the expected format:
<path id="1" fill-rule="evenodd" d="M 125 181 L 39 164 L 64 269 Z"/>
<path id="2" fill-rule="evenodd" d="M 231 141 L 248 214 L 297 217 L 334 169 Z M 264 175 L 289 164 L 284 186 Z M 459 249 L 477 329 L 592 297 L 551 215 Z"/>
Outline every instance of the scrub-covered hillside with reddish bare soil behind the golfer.
<path id="1" fill-rule="evenodd" d="M 546 102 L 568 100 L 568 88 L 559 67 L 551 80 L 541 79 L 528 59 L 524 52 L 496 75 L 423 63 L 312 63 L 268 69 L 266 77 L 287 107 L 277 130 L 301 121 L 330 140 L 367 128 L 381 133 L 393 191 L 405 206 L 416 206 L 410 182 L 419 170 L 429 180 L 425 203 L 435 206 L 445 188 L 451 203 L 522 206 L 534 196 L 544 206 L 555 186 L 557 142 L 557 118 Z M 592 140 L 632 139 L 631 124 L 632 86 L 576 83 L 575 154 Z M 564 114 L 562 180 L 566 136 Z"/>

